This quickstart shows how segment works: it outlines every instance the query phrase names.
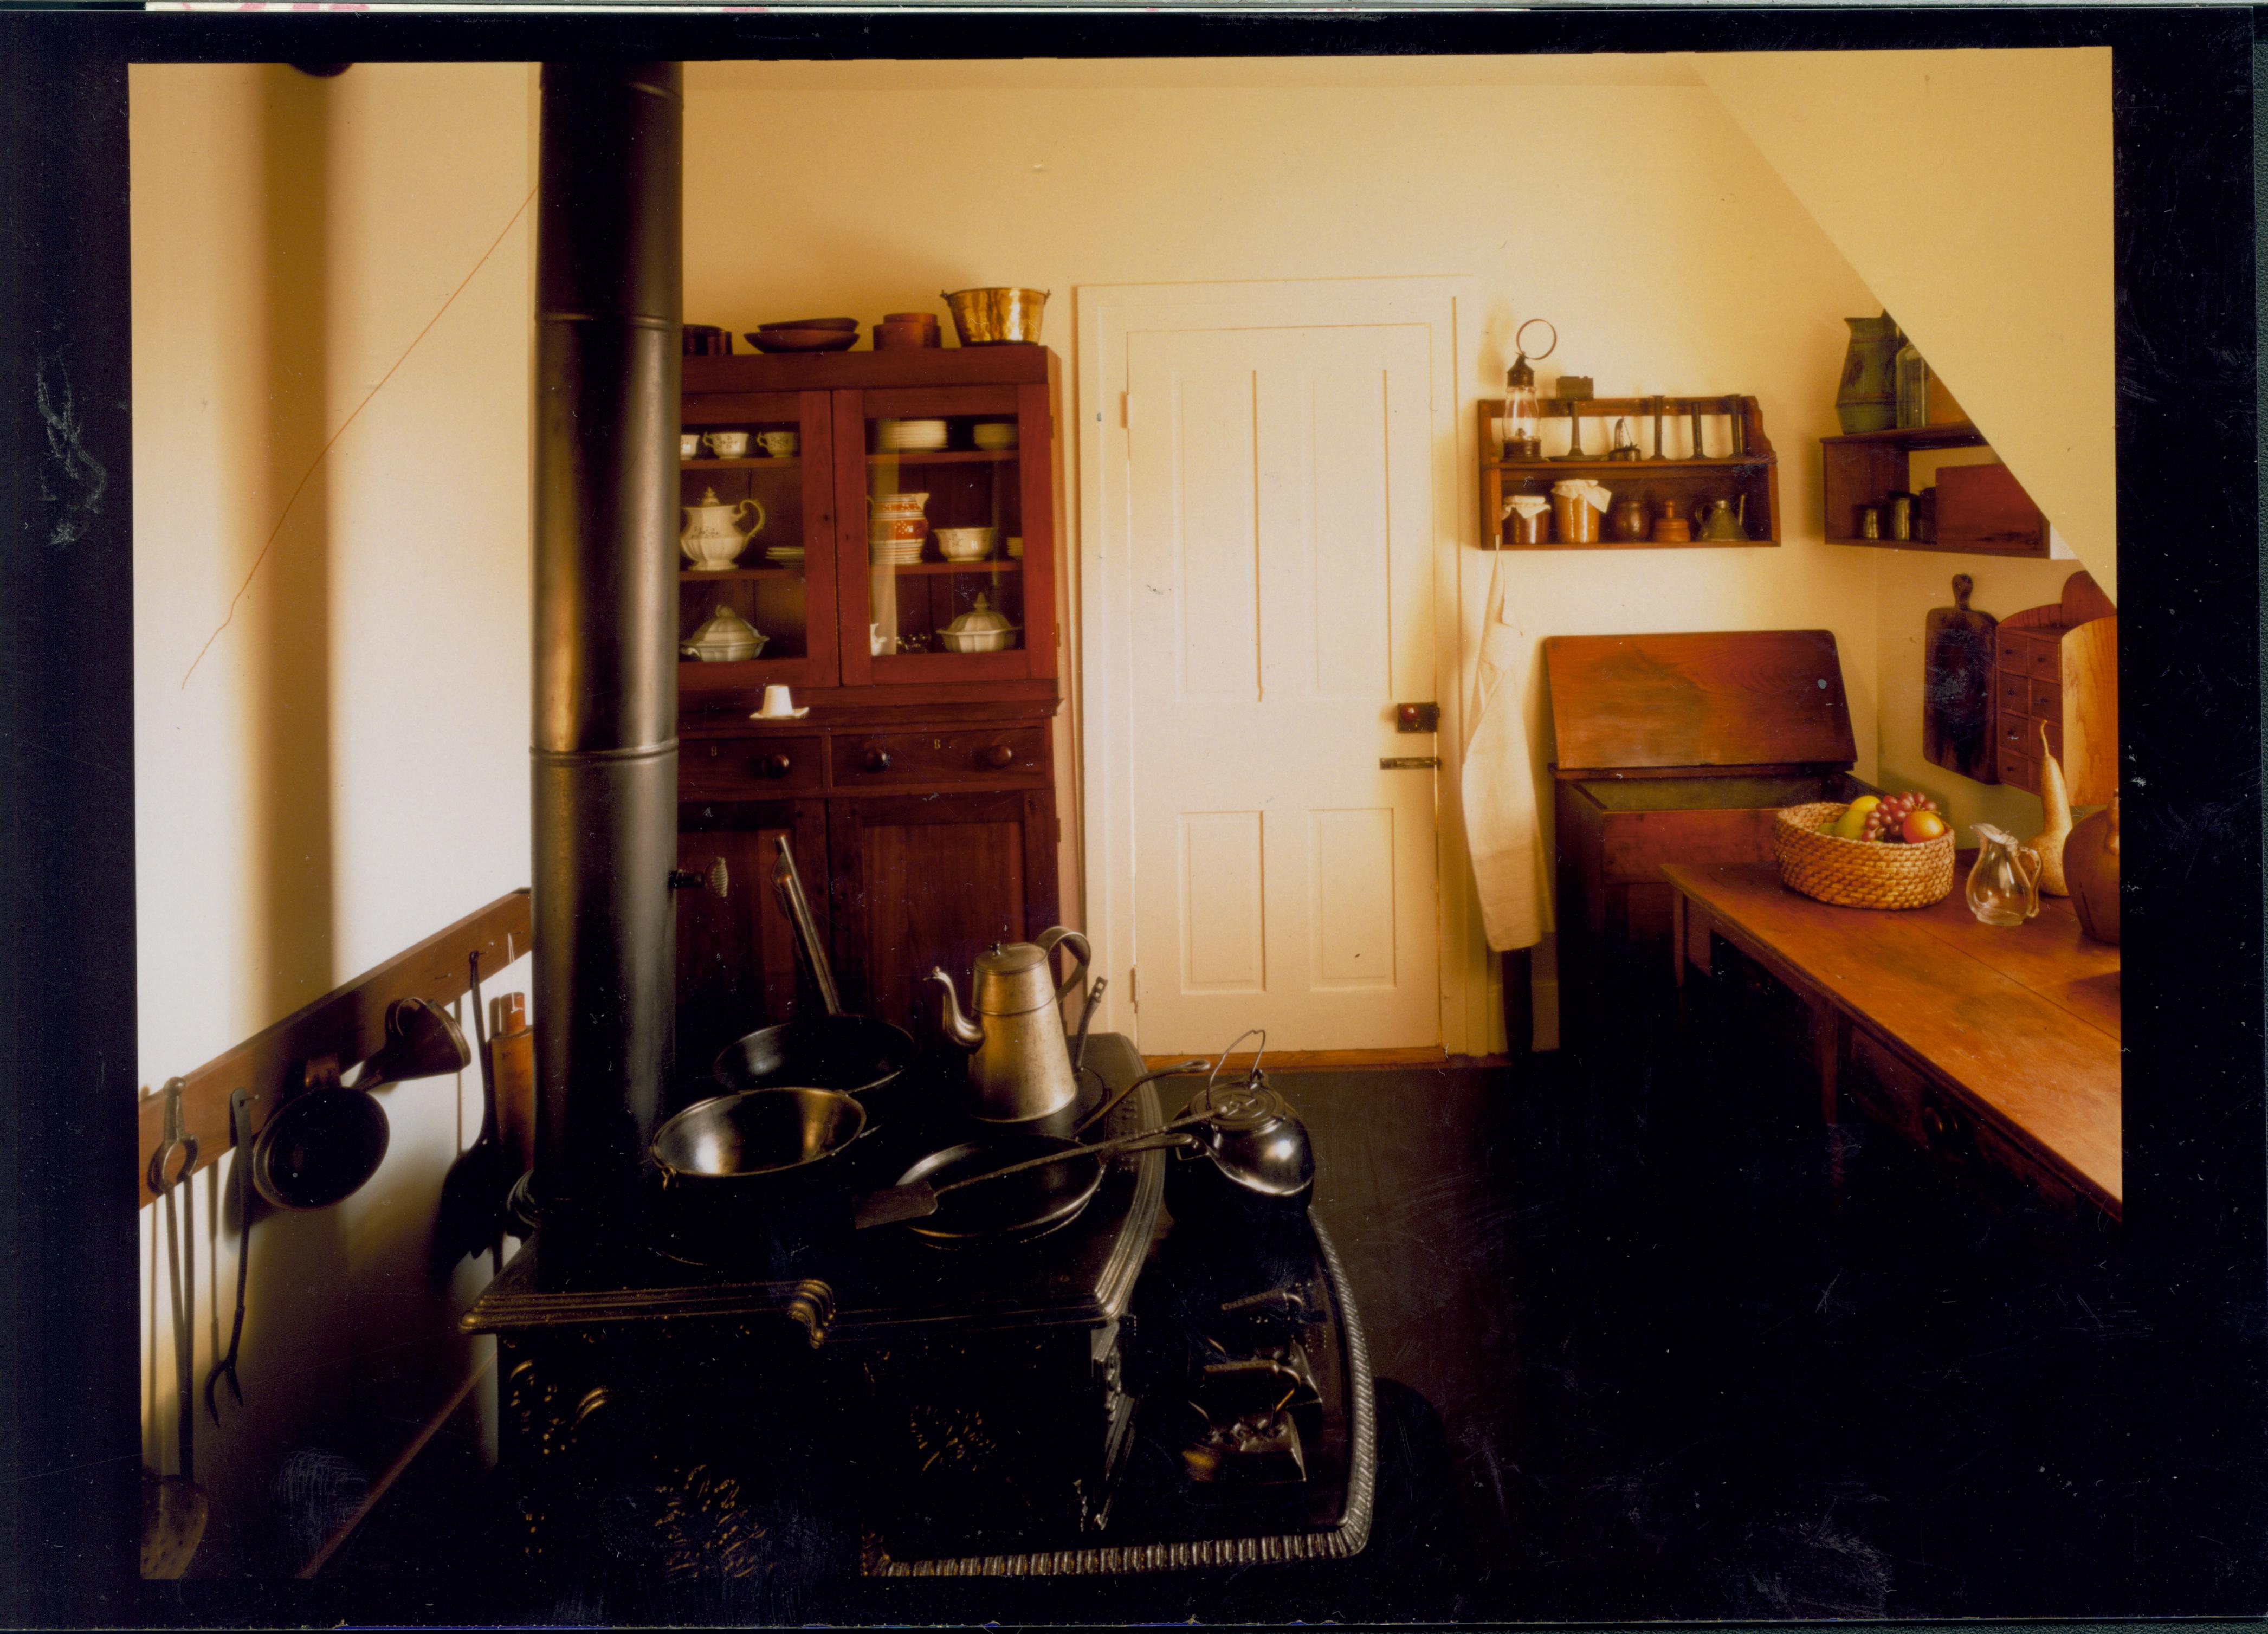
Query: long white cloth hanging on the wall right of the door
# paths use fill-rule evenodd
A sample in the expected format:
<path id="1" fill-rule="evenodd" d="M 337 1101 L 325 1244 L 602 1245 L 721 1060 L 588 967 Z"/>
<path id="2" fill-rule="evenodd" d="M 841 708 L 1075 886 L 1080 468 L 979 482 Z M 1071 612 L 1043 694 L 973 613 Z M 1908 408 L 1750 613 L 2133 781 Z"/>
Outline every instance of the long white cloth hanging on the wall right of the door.
<path id="1" fill-rule="evenodd" d="M 1526 658 L 1526 638 L 1513 622 L 1504 592 L 1504 556 L 1488 581 L 1481 622 L 1481 663 L 1472 688 L 1472 731 L 1465 735 L 1465 849 L 1481 892 L 1488 946 L 1535 946 L 1551 928 L 1549 871 L 1535 822 L 1535 767 L 1529 763 L 1529 724 L 1513 667 Z"/>

